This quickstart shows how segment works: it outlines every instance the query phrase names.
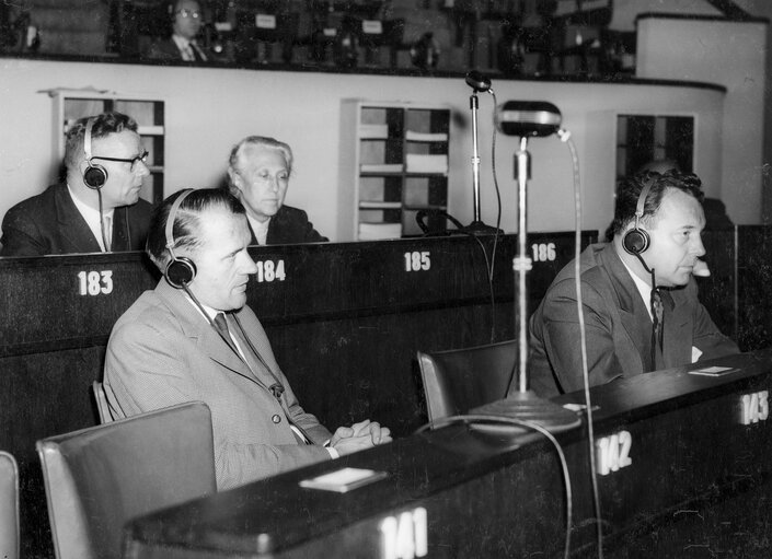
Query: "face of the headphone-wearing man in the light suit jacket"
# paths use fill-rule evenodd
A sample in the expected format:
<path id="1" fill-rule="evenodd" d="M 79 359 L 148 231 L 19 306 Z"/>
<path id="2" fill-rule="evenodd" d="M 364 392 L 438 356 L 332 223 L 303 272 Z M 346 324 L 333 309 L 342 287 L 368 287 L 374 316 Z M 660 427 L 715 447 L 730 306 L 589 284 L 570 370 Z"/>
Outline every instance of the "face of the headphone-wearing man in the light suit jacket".
<path id="1" fill-rule="evenodd" d="M 246 218 L 214 208 L 201 213 L 199 223 L 203 244 L 188 255 L 196 264 L 189 289 L 203 304 L 218 311 L 241 308 L 250 275 L 257 271 L 246 252 L 252 240 Z"/>

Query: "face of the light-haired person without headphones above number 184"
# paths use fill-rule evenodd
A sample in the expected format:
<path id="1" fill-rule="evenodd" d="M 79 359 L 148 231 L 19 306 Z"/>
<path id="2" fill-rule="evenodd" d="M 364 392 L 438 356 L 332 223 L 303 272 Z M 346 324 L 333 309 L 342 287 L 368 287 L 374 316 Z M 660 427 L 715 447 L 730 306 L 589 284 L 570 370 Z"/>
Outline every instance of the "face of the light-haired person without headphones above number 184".
<path id="1" fill-rule="evenodd" d="M 241 150 L 239 166 L 231 178 L 246 212 L 263 222 L 275 216 L 284 203 L 289 168 L 281 151 L 246 144 Z"/>

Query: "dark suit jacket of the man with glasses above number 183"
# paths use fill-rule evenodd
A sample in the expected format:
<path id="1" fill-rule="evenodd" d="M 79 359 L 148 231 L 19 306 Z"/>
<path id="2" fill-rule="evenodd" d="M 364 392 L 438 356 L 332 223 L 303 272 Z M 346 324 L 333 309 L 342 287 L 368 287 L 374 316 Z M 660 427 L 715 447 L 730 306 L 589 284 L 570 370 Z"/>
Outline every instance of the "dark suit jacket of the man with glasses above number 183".
<path id="1" fill-rule="evenodd" d="M 112 249 L 141 251 L 151 206 L 140 200 L 115 208 Z M 2 256 L 100 253 L 100 244 L 78 211 L 66 184 L 49 186 L 8 210 L 2 220 Z"/>

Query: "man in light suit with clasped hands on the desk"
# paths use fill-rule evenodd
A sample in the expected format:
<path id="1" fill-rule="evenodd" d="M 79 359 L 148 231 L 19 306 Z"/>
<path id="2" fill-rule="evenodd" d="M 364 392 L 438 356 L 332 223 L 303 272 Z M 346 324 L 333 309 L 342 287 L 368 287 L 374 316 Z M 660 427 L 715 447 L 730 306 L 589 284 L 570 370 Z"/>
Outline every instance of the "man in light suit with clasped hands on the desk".
<path id="1" fill-rule="evenodd" d="M 219 489 L 391 440 L 369 420 L 331 435 L 300 406 L 245 305 L 257 271 L 250 238 L 243 206 L 224 190 L 169 197 L 147 245 L 164 277 L 115 324 L 105 361 L 115 418 L 192 400 L 209 406 Z"/>

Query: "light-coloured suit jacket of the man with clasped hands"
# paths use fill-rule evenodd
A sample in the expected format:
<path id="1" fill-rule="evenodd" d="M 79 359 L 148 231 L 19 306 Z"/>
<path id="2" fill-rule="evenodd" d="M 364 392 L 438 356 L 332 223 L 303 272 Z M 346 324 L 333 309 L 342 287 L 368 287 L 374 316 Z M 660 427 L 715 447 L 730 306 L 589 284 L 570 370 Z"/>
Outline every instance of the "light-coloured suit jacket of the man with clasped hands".
<path id="1" fill-rule="evenodd" d="M 288 417 L 315 443 L 331 435 L 300 407 L 252 310 L 244 306 L 237 315 L 285 386 L 280 403 L 184 291 L 164 279 L 117 321 L 105 358 L 105 393 L 116 418 L 193 400 L 209 406 L 218 489 L 330 459 L 321 445 L 298 444 Z"/>

